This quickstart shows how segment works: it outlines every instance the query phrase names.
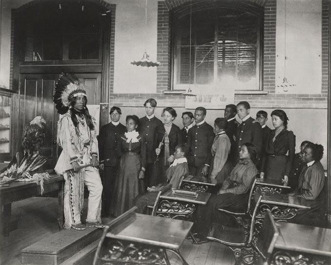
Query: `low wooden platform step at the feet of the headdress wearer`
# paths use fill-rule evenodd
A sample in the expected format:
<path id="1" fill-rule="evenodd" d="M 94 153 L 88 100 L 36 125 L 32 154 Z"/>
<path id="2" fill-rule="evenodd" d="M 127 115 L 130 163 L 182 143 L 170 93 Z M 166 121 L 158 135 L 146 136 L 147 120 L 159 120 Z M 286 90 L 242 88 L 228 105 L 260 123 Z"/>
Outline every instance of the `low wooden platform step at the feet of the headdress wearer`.
<path id="1" fill-rule="evenodd" d="M 58 265 L 97 241 L 103 229 L 89 227 L 86 230 L 62 230 L 22 249 L 22 264 Z"/>

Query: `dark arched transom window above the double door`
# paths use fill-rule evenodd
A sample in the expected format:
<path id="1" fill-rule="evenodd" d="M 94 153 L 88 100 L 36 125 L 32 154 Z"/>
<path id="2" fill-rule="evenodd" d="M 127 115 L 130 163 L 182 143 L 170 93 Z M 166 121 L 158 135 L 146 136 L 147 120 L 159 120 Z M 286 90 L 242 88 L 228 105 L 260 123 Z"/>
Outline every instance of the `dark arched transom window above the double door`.
<path id="1" fill-rule="evenodd" d="M 46 1 L 20 18 L 24 61 L 101 61 L 101 14 L 88 1 Z"/>

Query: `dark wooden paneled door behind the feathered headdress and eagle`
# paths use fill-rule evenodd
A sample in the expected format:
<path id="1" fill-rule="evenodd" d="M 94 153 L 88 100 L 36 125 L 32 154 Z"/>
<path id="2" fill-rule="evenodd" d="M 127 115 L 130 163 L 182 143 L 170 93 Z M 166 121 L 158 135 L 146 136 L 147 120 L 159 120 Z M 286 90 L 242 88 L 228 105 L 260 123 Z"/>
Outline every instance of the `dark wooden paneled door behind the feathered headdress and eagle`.
<path id="1" fill-rule="evenodd" d="M 25 126 L 36 116 L 46 120 L 46 137 L 41 147 L 41 154 L 47 157 L 50 167 L 54 167 L 58 159 L 57 122 L 59 115 L 53 102 L 54 89 L 60 74 L 21 74 L 19 131 L 18 140 Z M 88 96 L 88 104 L 101 102 L 101 74 L 76 74 L 84 83 Z M 19 146 L 19 150 L 21 146 Z"/>

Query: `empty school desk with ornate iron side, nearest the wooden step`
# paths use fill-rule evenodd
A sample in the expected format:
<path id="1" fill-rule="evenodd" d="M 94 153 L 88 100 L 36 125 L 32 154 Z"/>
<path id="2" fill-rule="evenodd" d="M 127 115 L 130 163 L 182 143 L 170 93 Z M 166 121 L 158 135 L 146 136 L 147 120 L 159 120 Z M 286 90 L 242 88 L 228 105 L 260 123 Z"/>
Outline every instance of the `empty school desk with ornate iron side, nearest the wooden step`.
<path id="1" fill-rule="evenodd" d="M 193 223 L 138 214 L 133 207 L 106 225 L 98 245 L 93 265 L 154 264 L 165 260 L 166 251 L 179 252 Z"/>

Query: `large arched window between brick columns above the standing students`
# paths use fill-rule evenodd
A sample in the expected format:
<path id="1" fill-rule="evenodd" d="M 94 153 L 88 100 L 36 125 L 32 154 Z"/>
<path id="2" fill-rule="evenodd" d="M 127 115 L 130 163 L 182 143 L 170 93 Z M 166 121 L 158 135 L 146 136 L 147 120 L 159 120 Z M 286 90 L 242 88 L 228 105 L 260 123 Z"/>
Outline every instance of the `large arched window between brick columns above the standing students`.
<path id="1" fill-rule="evenodd" d="M 173 89 L 189 82 L 260 89 L 262 8 L 226 1 L 184 4 L 173 11 L 171 29 Z"/>

